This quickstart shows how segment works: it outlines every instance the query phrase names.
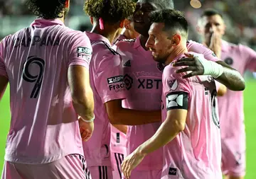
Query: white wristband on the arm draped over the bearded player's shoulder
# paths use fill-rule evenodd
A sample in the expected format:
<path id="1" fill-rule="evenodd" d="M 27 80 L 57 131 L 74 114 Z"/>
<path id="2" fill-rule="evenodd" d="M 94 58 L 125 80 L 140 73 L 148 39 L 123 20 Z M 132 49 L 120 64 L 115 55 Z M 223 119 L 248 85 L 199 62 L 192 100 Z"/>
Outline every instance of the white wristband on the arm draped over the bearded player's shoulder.
<path id="1" fill-rule="evenodd" d="M 203 57 L 203 55 L 197 56 L 201 64 L 203 65 L 203 74 L 213 76 L 214 79 L 217 79 L 220 75 L 223 74 L 223 66 L 217 64 L 216 62 L 209 61 Z"/>

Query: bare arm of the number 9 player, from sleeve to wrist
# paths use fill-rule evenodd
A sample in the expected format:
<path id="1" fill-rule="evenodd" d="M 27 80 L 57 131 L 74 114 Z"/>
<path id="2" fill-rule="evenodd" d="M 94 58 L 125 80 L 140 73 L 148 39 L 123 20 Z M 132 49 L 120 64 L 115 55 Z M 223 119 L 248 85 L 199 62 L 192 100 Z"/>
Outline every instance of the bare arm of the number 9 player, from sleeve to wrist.
<path id="1" fill-rule="evenodd" d="M 68 68 L 68 84 L 70 86 L 75 112 L 84 120 L 94 116 L 92 88 L 90 88 L 89 70 L 80 65 Z"/>

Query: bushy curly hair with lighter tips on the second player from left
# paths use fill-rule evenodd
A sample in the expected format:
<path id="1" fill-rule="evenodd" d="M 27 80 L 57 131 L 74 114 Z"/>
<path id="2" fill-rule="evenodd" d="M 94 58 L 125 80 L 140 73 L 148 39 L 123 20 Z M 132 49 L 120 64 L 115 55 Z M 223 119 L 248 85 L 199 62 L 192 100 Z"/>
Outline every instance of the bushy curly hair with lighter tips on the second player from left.
<path id="1" fill-rule="evenodd" d="M 86 0 L 84 11 L 93 18 L 102 18 L 108 23 L 117 23 L 132 16 L 133 0 Z"/>

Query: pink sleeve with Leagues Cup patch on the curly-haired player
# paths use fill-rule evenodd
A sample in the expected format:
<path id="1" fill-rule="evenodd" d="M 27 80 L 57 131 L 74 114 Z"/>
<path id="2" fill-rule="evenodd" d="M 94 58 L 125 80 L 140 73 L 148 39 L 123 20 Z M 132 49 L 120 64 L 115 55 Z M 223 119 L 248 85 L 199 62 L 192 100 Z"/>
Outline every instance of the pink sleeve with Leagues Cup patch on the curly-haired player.
<path id="1" fill-rule="evenodd" d="M 103 57 L 95 74 L 95 87 L 102 98 L 102 103 L 110 100 L 126 98 L 126 88 L 123 81 L 122 61 L 119 54 Z"/>

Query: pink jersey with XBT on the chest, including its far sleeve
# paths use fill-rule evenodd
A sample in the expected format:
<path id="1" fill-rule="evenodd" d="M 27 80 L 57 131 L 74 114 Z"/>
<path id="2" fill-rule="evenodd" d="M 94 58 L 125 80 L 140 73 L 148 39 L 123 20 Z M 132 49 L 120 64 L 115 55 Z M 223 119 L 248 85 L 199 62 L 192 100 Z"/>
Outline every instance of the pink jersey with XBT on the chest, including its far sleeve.
<path id="1" fill-rule="evenodd" d="M 188 51 L 204 54 L 211 61 L 218 61 L 215 54 L 203 45 L 189 41 Z M 160 110 L 163 66 L 154 62 L 150 51 L 144 50 L 139 37 L 135 40 L 122 40 L 117 43 L 117 52 L 122 55 L 124 68 L 124 82 L 127 85 L 128 97 L 123 100 L 124 108 L 134 110 Z M 152 137 L 161 122 L 148 125 L 129 126 L 127 132 L 127 154 Z M 158 156 L 156 158 L 156 156 Z M 144 158 L 135 170 L 161 170 L 162 149 L 154 151 Z"/>

